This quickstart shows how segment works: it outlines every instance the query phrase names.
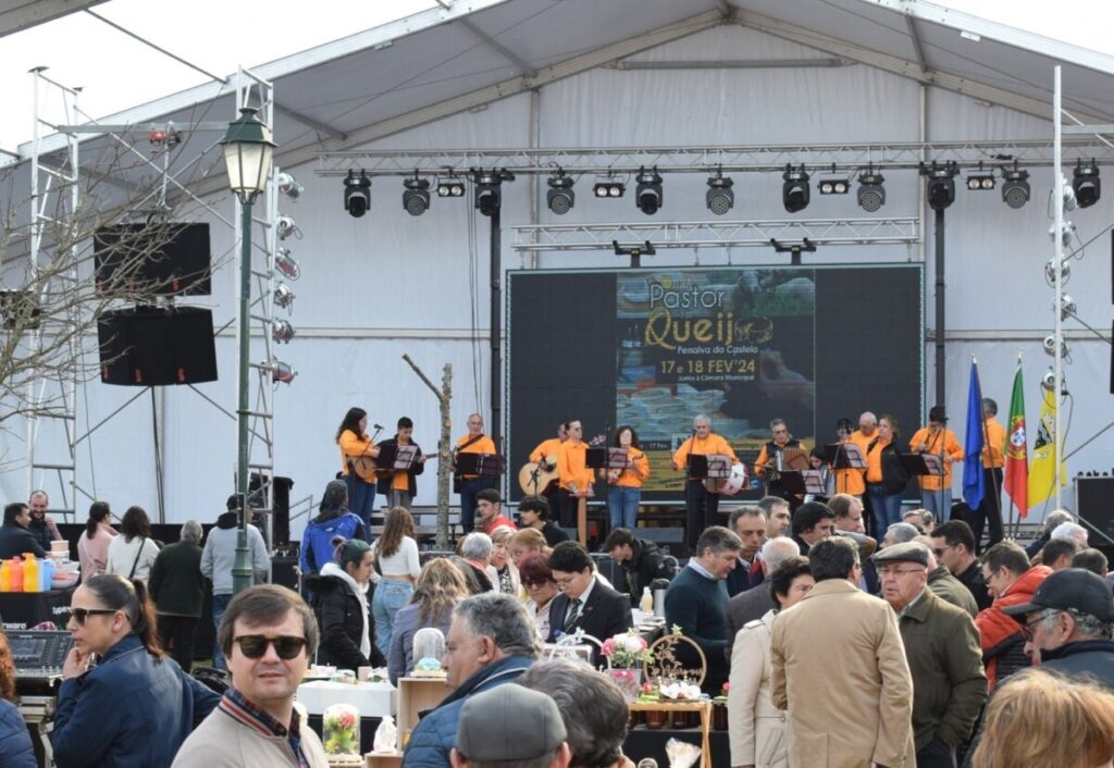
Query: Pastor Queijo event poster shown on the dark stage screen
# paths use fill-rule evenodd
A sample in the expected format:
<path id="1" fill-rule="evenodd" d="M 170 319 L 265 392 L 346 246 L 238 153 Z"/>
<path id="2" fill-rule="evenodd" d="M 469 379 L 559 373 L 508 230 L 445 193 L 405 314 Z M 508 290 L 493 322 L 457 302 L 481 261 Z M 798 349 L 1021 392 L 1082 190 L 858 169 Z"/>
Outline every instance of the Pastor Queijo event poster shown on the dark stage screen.
<path id="1" fill-rule="evenodd" d="M 753 465 L 783 418 L 812 445 L 815 275 L 810 270 L 670 270 L 616 282 L 616 424 L 651 460 L 646 490 L 677 490 L 671 454 L 700 414 Z"/>

